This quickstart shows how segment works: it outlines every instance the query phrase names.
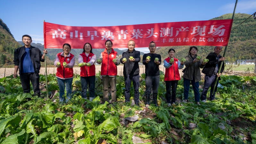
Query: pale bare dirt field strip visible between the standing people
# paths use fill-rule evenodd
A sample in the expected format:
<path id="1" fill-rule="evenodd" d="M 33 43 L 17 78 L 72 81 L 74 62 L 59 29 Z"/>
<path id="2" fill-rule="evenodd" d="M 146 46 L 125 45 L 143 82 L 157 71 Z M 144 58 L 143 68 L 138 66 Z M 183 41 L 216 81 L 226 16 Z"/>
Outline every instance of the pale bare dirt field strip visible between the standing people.
<path id="1" fill-rule="evenodd" d="M 96 68 L 96 73 L 98 73 L 98 71 L 100 71 L 100 69 L 101 69 L 101 65 L 96 65 L 95 68 Z M 119 76 L 123 76 L 123 68 L 124 68 L 123 65 L 117 66 L 117 74 Z M 165 68 L 164 68 L 163 65 L 160 65 L 159 69 L 161 71 L 165 72 Z M 74 70 L 74 73 L 76 73 L 76 74 L 80 73 L 80 68 L 73 68 L 73 70 Z M 179 71 L 180 71 L 180 75 L 182 75 L 182 70 L 179 70 Z M 13 72 L 14 72 L 14 68 L 6 68 L 5 76 L 10 76 L 10 75 L 13 74 Z M 47 74 L 53 74 L 53 73 L 56 73 L 56 68 L 47 68 Z M 145 66 L 144 65 L 140 66 L 140 74 L 142 74 L 142 73 L 145 73 Z M 41 68 L 39 74 L 44 75 L 45 74 L 45 68 Z M 4 77 L 4 68 L 0 68 L 0 78 L 3 78 L 3 77 Z"/>

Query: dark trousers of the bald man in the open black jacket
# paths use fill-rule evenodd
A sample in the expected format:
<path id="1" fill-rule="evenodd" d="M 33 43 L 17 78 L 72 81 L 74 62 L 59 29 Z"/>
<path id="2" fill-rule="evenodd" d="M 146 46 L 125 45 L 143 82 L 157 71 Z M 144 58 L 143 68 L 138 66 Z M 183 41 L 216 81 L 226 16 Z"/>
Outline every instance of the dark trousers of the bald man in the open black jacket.
<path id="1" fill-rule="evenodd" d="M 130 101 L 130 88 L 131 84 L 133 84 L 134 88 L 134 102 L 138 103 L 139 102 L 139 84 L 140 84 L 140 75 L 128 75 L 124 76 L 124 84 L 125 84 L 125 91 L 124 91 L 124 98 L 125 102 Z"/>

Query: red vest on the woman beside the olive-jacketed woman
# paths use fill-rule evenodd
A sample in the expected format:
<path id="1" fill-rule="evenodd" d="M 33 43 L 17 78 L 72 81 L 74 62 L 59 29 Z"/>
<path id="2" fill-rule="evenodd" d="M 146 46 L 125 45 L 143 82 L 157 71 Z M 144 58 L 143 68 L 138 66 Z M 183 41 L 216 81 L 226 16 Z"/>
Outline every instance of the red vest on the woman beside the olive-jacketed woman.
<path id="1" fill-rule="evenodd" d="M 168 63 L 170 62 L 170 57 L 165 59 Z M 165 81 L 180 80 L 180 73 L 178 69 L 178 59 L 174 58 L 174 63 L 170 68 L 165 69 Z"/>

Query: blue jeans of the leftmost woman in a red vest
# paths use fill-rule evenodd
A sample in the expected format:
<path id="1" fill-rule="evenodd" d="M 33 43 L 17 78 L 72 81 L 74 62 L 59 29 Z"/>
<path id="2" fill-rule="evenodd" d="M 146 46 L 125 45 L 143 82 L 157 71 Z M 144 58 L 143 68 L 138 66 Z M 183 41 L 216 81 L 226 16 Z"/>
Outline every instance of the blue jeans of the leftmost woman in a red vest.
<path id="1" fill-rule="evenodd" d="M 57 78 L 58 81 L 58 85 L 60 88 L 60 102 L 63 102 L 65 100 L 65 97 L 63 97 L 63 95 L 65 94 L 65 84 L 66 84 L 66 91 L 67 91 L 67 98 L 66 98 L 66 103 L 68 102 L 68 100 L 71 99 L 72 97 L 72 82 L 73 82 L 73 78 L 68 78 L 68 79 L 61 79 L 61 78 Z"/>

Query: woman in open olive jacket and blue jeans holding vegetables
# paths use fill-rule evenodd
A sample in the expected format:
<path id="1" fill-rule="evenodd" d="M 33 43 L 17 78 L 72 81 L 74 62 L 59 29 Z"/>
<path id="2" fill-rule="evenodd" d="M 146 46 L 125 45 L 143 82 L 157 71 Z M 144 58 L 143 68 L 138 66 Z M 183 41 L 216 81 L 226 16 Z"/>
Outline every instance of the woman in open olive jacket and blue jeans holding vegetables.
<path id="1" fill-rule="evenodd" d="M 200 93 L 199 93 L 199 81 L 201 81 L 200 68 L 204 68 L 205 63 L 201 60 L 200 56 L 197 56 L 198 49 L 196 46 L 191 46 L 189 48 L 188 56 L 185 57 L 186 68 L 182 71 L 183 84 L 184 84 L 184 100 L 183 102 L 188 102 L 188 92 L 190 87 L 190 82 L 194 90 L 195 101 L 200 105 Z"/>

